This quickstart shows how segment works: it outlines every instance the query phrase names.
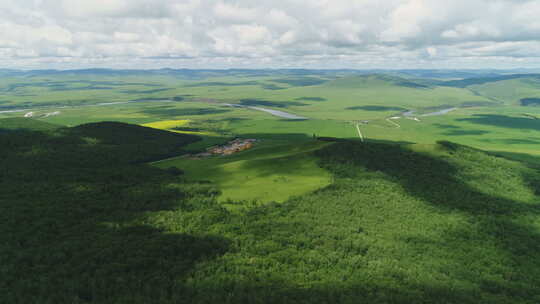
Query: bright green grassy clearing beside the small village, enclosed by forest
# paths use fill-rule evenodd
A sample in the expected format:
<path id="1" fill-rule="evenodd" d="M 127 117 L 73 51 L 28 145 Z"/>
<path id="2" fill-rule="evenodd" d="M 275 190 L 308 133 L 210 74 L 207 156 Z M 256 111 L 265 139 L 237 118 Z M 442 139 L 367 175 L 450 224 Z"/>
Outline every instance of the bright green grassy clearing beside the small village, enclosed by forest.
<path id="1" fill-rule="evenodd" d="M 157 162 L 159 168 L 178 167 L 189 180 L 209 180 L 218 187 L 222 202 L 283 202 L 327 186 L 330 175 L 312 155 L 325 144 L 261 142 L 255 148 L 230 156 L 201 160 L 189 158 Z"/>

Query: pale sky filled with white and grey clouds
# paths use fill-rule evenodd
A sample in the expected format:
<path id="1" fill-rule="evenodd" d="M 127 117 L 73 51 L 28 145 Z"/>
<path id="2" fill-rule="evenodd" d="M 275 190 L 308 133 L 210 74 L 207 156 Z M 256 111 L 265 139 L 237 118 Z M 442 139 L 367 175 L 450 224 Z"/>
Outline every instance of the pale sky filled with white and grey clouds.
<path id="1" fill-rule="evenodd" d="M 0 68 L 539 68 L 538 0 L 0 0 Z"/>

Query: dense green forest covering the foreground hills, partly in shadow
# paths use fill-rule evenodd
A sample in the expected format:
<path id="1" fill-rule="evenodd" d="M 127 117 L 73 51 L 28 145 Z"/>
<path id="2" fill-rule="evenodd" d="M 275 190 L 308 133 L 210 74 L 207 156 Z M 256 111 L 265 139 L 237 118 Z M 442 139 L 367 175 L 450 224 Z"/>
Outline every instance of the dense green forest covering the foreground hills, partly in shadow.
<path id="1" fill-rule="evenodd" d="M 197 136 L 0 121 L 2 303 L 539 303 L 538 167 L 340 140 L 332 184 L 226 209 L 146 162 Z"/>

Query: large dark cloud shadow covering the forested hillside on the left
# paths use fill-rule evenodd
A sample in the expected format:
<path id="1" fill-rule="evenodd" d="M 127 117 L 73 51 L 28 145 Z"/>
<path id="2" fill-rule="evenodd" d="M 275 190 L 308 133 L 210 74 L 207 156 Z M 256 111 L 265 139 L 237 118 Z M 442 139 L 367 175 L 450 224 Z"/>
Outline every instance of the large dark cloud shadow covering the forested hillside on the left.
<path id="1" fill-rule="evenodd" d="M 177 177 L 169 172 L 132 165 L 136 156 L 117 157 L 125 152 L 89 144 L 80 132 L 0 130 L 3 300 L 164 301 L 155 297 L 177 288 L 172 278 L 228 250 L 219 236 L 149 225 L 150 212 L 199 208 L 185 199 L 193 194 L 171 187 Z"/>

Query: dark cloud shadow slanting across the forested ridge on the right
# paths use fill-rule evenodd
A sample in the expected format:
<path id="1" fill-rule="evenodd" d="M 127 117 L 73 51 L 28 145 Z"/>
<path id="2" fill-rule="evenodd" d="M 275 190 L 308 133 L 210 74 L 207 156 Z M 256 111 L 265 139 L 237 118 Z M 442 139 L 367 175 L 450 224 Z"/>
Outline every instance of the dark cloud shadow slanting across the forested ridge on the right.
<path id="1" fill-rule="evenodd" d="M 474 151 L 449 142 L 441 142 L 440 147 L 448 153 L 467 149 Z M 337 157 L 336 149 L 339 151 Z M 461 169 L 445 158 L 414 152 L 401 145 L 340 143 L 321 150 L 319 155 L 323 160 L 331 160 L 331 163 L 349 164 L 357 166 L 359 170 L 364 168 L 384 173 L 390 181 L 401 184 L 409 195 L 437 208 L 439 212 L 469 216 L 479 227 L 474 237 L 489 242 L 501 255 L 508 256 L 515 273 L 540 269 L 540 233 L 532 225 L 515 221 L 516 218 L 540 216 L 539 204 L 481 192 L 458 178 Z M 522 178 L 530 190 L 538 195 L 540 174 L 531 172 Z M 453 250 L 452 244 L 469 244 L 458 240 L 470 238 L 468 235 L 471 232 L 456 230 L 452 233 L 454 235 L 448 234 L 447 239 L 436 246 Z M 463 275 L 468 273 L 468 280 L 484 292 L 505 295 L 516 301 L 534 298 L 533 294 L 538 292 L 537 286 L 540 286 L 540 280 L 536 278 L 536 282 L 531 282 L 530 276 L 498 281 L 488 276 L 478 276 L 474 270 L 463 271 Z"/>

